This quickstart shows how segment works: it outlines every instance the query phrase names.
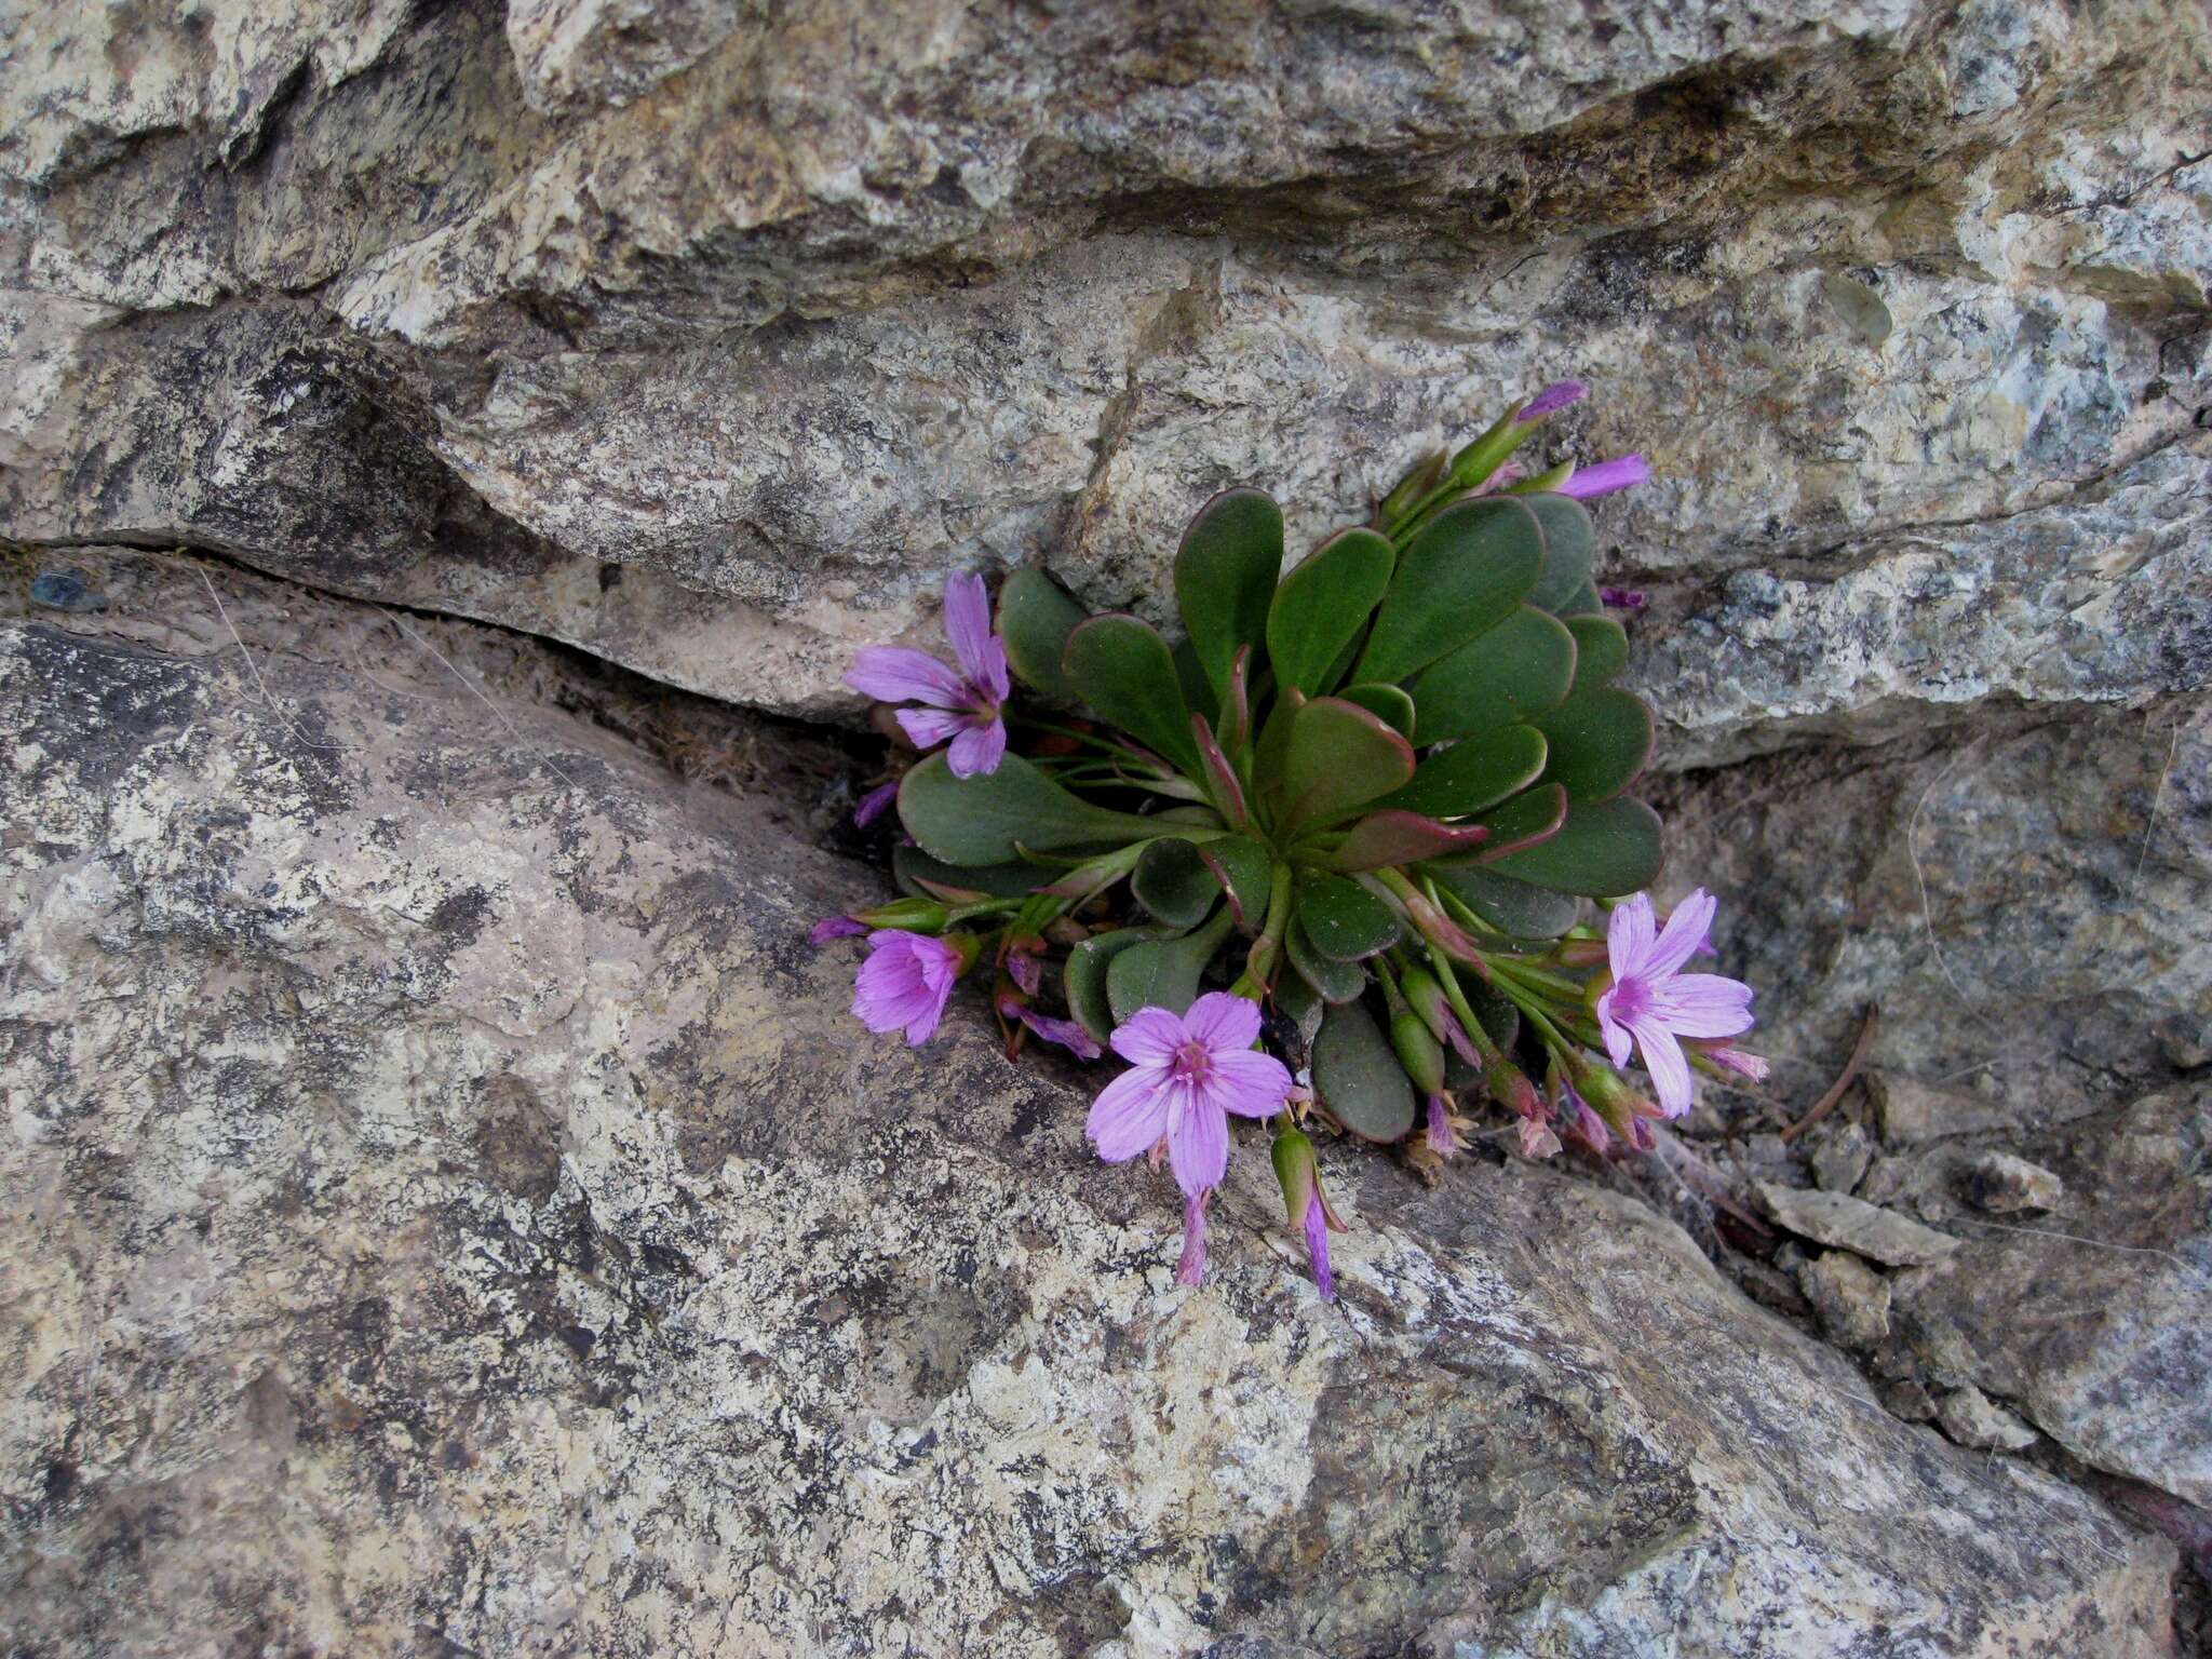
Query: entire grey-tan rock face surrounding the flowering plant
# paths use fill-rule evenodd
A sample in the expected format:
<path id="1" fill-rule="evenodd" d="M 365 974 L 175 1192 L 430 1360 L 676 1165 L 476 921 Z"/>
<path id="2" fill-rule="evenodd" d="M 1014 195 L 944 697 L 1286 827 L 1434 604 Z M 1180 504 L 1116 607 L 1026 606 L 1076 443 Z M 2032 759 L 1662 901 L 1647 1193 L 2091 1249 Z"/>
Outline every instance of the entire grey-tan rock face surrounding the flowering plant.
<path id="1" fill-rule="evenodd" d="M 2194 1659 L 2208 111 L 2170 0 L 0 0 L 4 1646 Z M 730 706 L 1559 376 L 1774 1057 L 1650 1197 L 1803 1329 L 1590 1168 L 1175 1290 Z"/>

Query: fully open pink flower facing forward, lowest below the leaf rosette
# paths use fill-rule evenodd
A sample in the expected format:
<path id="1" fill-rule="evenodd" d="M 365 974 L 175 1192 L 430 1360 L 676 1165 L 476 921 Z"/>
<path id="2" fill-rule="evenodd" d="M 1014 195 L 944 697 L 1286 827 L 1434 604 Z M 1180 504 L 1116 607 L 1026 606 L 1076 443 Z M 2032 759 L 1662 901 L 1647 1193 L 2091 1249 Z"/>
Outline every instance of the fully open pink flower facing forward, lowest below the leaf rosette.
<path id="1" fill-rule="evenodd" d="M 1219 1186 L 1230 1168 L 1230 1113 L 1274 1117 L 1290 1071 L 1252 1048 L 1259 1004 L 1208 991 L 1190 1013 L 1137 1009 L 1113 1033 L 1128 1071 L 1099 1091 L 1084 1133 L 1099 1157 L 1124 1164 L 1161 1137 L 1183 1194 Z"/>

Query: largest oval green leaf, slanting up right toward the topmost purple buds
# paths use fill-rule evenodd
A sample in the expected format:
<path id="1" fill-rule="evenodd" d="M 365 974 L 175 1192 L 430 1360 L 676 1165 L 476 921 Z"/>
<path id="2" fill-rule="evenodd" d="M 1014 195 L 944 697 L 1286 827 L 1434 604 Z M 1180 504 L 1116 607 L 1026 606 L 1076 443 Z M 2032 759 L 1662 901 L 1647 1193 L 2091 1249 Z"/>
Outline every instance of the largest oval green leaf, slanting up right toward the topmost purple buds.
<path id="1" fill-rule="evenodd" d="M 1398 560 L 1352 677 L 1398 681 L 1489 633 L 1528 597 L 1542 564 L 1544 531 L 1524 500 L 1447 507 Z"/>

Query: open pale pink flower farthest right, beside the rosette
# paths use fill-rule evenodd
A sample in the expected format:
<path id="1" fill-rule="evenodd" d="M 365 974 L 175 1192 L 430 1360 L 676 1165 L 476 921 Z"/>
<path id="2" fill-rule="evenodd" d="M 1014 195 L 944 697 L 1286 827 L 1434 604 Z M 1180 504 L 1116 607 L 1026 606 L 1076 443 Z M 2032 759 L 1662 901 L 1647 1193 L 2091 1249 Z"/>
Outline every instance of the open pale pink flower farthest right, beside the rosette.
<path id="1" fill-rule="evenodd" d="M 1712 929 L 1712 896 L 1699 887 L 1655 938 L 1652 902 L 1637 894 L 1613 907 L 1606 927 L 1613 984 L 1597 998 L 1597 1029 L 1615 1066 L 1628 1064 L 1635 1040 L 1668 1117 L 1690 1110 L 1690 1062 L 1679 1037 L 1734 1037 L 1752 1029 L 1752 987 L 1681 971 Z"/>

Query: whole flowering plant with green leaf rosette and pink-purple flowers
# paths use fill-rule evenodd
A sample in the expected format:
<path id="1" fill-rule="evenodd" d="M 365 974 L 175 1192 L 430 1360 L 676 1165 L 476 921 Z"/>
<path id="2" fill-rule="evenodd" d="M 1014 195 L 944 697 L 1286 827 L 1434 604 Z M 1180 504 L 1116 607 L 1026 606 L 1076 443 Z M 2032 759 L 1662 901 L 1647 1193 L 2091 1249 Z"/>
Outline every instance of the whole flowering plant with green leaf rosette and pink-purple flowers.
<path id="1" fill-rule="evenodd" d="M 953 575 L 958 666 L 872 646 L 847 675 L 929 750 L 896 783 L 905 896 L 814 929 L 865 936 L 854 1013 L 922 1044 L 989 962 L 1009 1053 L 1110 1051 L 1086 1133 L 1172 1170 L 1181 1283 L 1237 1119 L 1272 1124 L 1329 1298 L 1343 1223 L 1307 1130 L 1433 1170 L 1486 1099 L 1526 1157 L 1626 1155 L 1690 1110 L 1692 1073 L 1765 1075 L 1734 1046 L 1750 987 L 1688 971 L 1714 900 L 1646 894 L 1661 825 L 1628 790 L 1652 714 L 1606 615 L 1641 595 L 1593 584 L 1584 502 L 1650 469 L 1513 460 L 1582 396 L 1544 387 L 1431 453 L 1290 571 L 1276 502 L 1217 495 L 1175 555 L 1181 639 L 1035 568 L 993 624 Z"/>

